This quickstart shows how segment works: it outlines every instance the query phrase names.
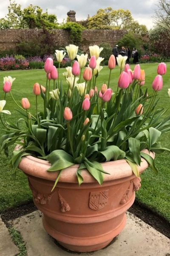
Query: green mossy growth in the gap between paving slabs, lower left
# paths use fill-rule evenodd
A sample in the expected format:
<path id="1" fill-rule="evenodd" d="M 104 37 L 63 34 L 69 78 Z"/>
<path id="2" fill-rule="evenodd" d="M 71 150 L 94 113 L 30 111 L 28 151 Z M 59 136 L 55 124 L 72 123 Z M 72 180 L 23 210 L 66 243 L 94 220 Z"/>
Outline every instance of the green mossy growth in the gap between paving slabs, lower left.
<path id="1" fill-rule="evenodd" d="M 26 243 L 23 241 L 23 238 L 18 230 L 16 230 L 14 227 L 9 227 L 8 231 L 11 235 L 11 239 L 13 243 L 18 247 L 18 250 L 20 253 L 17 254 L 17 256 L 26 256 L 27 255 L 27 249 L 26 249 Z"/>

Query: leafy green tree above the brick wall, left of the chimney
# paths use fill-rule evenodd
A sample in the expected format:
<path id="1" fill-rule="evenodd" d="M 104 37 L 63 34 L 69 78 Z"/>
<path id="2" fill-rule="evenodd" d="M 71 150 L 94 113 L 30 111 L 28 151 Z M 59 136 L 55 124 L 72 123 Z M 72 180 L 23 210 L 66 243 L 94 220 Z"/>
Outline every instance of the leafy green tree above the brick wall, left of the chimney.
<path id="1" fill-rule="evenodd" d="M 21 9 L 21 5 L 15 1 L 9 1 L 8 14 L 0 19 L 0 29 L 18 29 L 18 28 L 58 28 L 56 15 L 48 14 L 48 11 L 42 12 L 40 6 L 29 5 Z"/>

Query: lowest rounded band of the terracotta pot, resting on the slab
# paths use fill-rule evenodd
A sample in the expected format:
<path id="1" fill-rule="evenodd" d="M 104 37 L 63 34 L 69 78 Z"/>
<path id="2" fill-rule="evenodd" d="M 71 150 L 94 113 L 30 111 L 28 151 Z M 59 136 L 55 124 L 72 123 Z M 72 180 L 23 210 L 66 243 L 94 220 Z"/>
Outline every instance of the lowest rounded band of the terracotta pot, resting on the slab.
<path id="1" fill-rule="evenodd" d="M 56 232 L 52 227 L 49 226 L 48 223 L 46 223 L 45 218 L 43 216 L 42 223 L 47 231 L 47 233 L 52 236 L 54 239 L 57 240 L 57 242 L 62 245 L 62 247 L 65 247 L 68 250 L 74 251 L 74 252 L 92 252 L 96 250 L 100 250 L 104 247 L 106 247 L 108 244 L 111 243 L 111 241 L 123 230 L 126 224 L 126 214 L 123 216 L 122 222 L 111 232 L 111 233 L 105 233 L 102 236 L 99 237 L 88 237 L 88 238 L 77 238 L 77 237 L 71 237 L 71 236 L 64 236 L 63 234 Z M 62 238 L 62 241 L 61 241 Z M 68 243 L 67 243 L 68 240 Z"/>

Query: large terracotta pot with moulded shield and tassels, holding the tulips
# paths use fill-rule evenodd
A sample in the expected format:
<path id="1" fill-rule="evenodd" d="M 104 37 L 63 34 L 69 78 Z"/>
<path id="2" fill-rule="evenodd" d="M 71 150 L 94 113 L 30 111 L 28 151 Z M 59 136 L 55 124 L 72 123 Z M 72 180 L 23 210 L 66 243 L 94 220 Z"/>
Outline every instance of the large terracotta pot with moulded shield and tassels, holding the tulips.
<path id="1" fill-rule="evenodd" d="M 147 150 L 144 150 L 147 152 Z M 150 152 L 154 158 L 154 154 Z M 65 248 L 77 252 L 99 250 L 125 227 L 125 212 L 133 204 L 141 179 L 133 175 L 125 160 L 102 163 L 105 175 L 100 186 L 86 170 L 84 183 L 77 184 L 78 165 L 62 172 L 47 172 L 50 163 L 32 156 L 23 157 L 19 168 L 28 176 L 34 204 L 43 212 L 45 230 Z M 139 172 L 148 167 L 142 159 Z"/>

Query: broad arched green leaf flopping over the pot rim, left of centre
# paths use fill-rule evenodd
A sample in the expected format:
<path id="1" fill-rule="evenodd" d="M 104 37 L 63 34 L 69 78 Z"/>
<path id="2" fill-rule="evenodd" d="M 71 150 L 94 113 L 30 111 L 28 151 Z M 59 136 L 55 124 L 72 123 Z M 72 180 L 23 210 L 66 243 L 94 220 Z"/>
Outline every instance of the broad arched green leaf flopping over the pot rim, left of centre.
<path id="1" fill-rule="evenodd" d="M 73 157 L 60 149 L 52 151 L 46 159 L 52 165 L 47 171 L 59 171 L 74 165 Z"/>

